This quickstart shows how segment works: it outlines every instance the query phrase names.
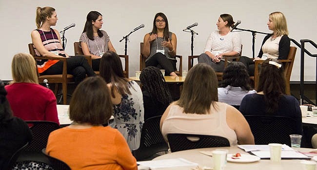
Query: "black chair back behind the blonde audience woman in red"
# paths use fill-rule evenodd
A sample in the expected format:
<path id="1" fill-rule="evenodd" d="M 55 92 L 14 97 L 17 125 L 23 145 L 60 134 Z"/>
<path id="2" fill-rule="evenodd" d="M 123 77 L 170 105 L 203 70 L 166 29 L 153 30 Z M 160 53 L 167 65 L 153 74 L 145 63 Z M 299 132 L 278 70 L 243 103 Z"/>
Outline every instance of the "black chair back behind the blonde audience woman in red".
<path id="1" fill-rule="evenodd" d="M 59 129 L 59 124 L 51 121 L 25 121 L 32 133 L 33 139 L 30 144 L 25 148 L 26 152 L 40 152 L 46 148 L 47 139 L 51 132 Z"/>

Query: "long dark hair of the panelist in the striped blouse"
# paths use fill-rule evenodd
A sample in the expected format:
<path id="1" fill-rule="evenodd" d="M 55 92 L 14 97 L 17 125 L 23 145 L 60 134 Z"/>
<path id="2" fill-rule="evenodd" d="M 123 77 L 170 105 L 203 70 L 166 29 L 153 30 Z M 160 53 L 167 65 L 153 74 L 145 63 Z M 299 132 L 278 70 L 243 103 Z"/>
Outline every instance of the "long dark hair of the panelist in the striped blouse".
<path id="1" fill-rule="evenodd" d="M 87 14 L 85 27 L 84 27 L 84 30 L 82 31 L 82 33 L 86 32 L 87 37 L 91 40 L 94 40 L 94 31 L 93 31 L 92 21 L 96 22 L 96 19 L 98 19 L 99 16 L 102 16 L 102 15 L 98 11 L 90 11 Z M 98 36 L 100 38 L 103 36 L 99 29 L 98 29 L 97 33 L 98 33 Z"/>

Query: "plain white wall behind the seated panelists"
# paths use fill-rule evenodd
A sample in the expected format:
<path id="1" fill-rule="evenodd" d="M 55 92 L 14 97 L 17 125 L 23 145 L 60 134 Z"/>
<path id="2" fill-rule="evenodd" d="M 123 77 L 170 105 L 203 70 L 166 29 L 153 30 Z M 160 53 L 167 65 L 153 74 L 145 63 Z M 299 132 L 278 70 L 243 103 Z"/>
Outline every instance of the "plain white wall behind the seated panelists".
<path id="1" fill-rule="evenodd" d="M 66 53 L 74 55 L 73 42 L 79 40 L 83 30 L 86 15 L 91 10 L 103 15 L 102 29 L 107 31 L 118 54 L 124 54 L 122 36 L 127 35 L 141 23 L 145 27 L 130 35 L 128 42 L 129 72 L 133 76 L 139 70 L 139 43 L 143 36 L 152 30 L 152 22 L 156 13 L 163 12 L 169 20 L 170 31 L 178 38 L 177 54 L 183 56 L 183 69 L 187 69 L 187 56 L 190 55 L 190 33 L 182 32 L 186 26 L 198 22 L 194 30 L 199 33 L 194 40 L 194 55 L 199 55 L 211 31 L 217 29 L 216 21 L 220 14 L 229 13 L 234 20 L 241 20 L 238 28 L 270 31 L 266 22 L 268 15 L 281 11 L 287 18 L 290 38 L 299 42 L 300 39 L 311 39 L 317 43 L 317 0 L 0 0 L 1 19 L 1 59 L 0 79 L 11 80 L 11 60 L 19 52 L 28 53 L 27 44 L 31 43 L 30 33 L 36 28 L 35 13 L 37 6 L 52 6 L 57 10 L 58 30 L 71 23 L 76 27 L 66 31 L 68 40 Z M 243 56 L 252 56 L 252 35 L 241 32 Z M 257 35 L 255 54 L 258 51 L 264 35 Z M 292 46 L 294 44 L 291 43 Z M 314 54 L 315 48 L 309 48 Z M 306 57 L 305 80 L 315 80 L 315 59 Z M 292 81 L 299 80 L 300 50 L 297 49 Z"/>

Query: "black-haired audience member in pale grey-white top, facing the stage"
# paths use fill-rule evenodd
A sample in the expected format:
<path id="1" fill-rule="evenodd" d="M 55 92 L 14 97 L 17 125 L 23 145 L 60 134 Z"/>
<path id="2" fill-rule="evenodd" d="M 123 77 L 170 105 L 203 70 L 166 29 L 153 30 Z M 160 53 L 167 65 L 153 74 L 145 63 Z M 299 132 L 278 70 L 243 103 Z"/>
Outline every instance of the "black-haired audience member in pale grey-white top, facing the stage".
<path id="1" fill-rule="evenodd" d="M 251 90 L 249 74 L 241 62 L 230 63 L 223 71 L 222 81 L 218 87 L 218 101 L 240 106 L 246 94 L 257 93 Z"/>

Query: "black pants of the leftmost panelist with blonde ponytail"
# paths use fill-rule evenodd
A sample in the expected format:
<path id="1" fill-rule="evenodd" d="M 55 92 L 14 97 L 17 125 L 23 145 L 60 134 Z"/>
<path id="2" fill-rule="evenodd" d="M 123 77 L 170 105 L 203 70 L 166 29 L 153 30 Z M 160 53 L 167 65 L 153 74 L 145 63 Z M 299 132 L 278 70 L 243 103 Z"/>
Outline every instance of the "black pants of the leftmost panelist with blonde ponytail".
<path id="1" fill-rule="evenodd" d="M 75 83 L 79 84 L 87 76 L 95 76 L 94 70 L 90 67 L 85 57 L 76 56 L 66 58 L 67 74 L 74 76 Z M 59 61 L 49 67 L 40 75 L 61 75 L 63 73 L 63 62 Z"/>

